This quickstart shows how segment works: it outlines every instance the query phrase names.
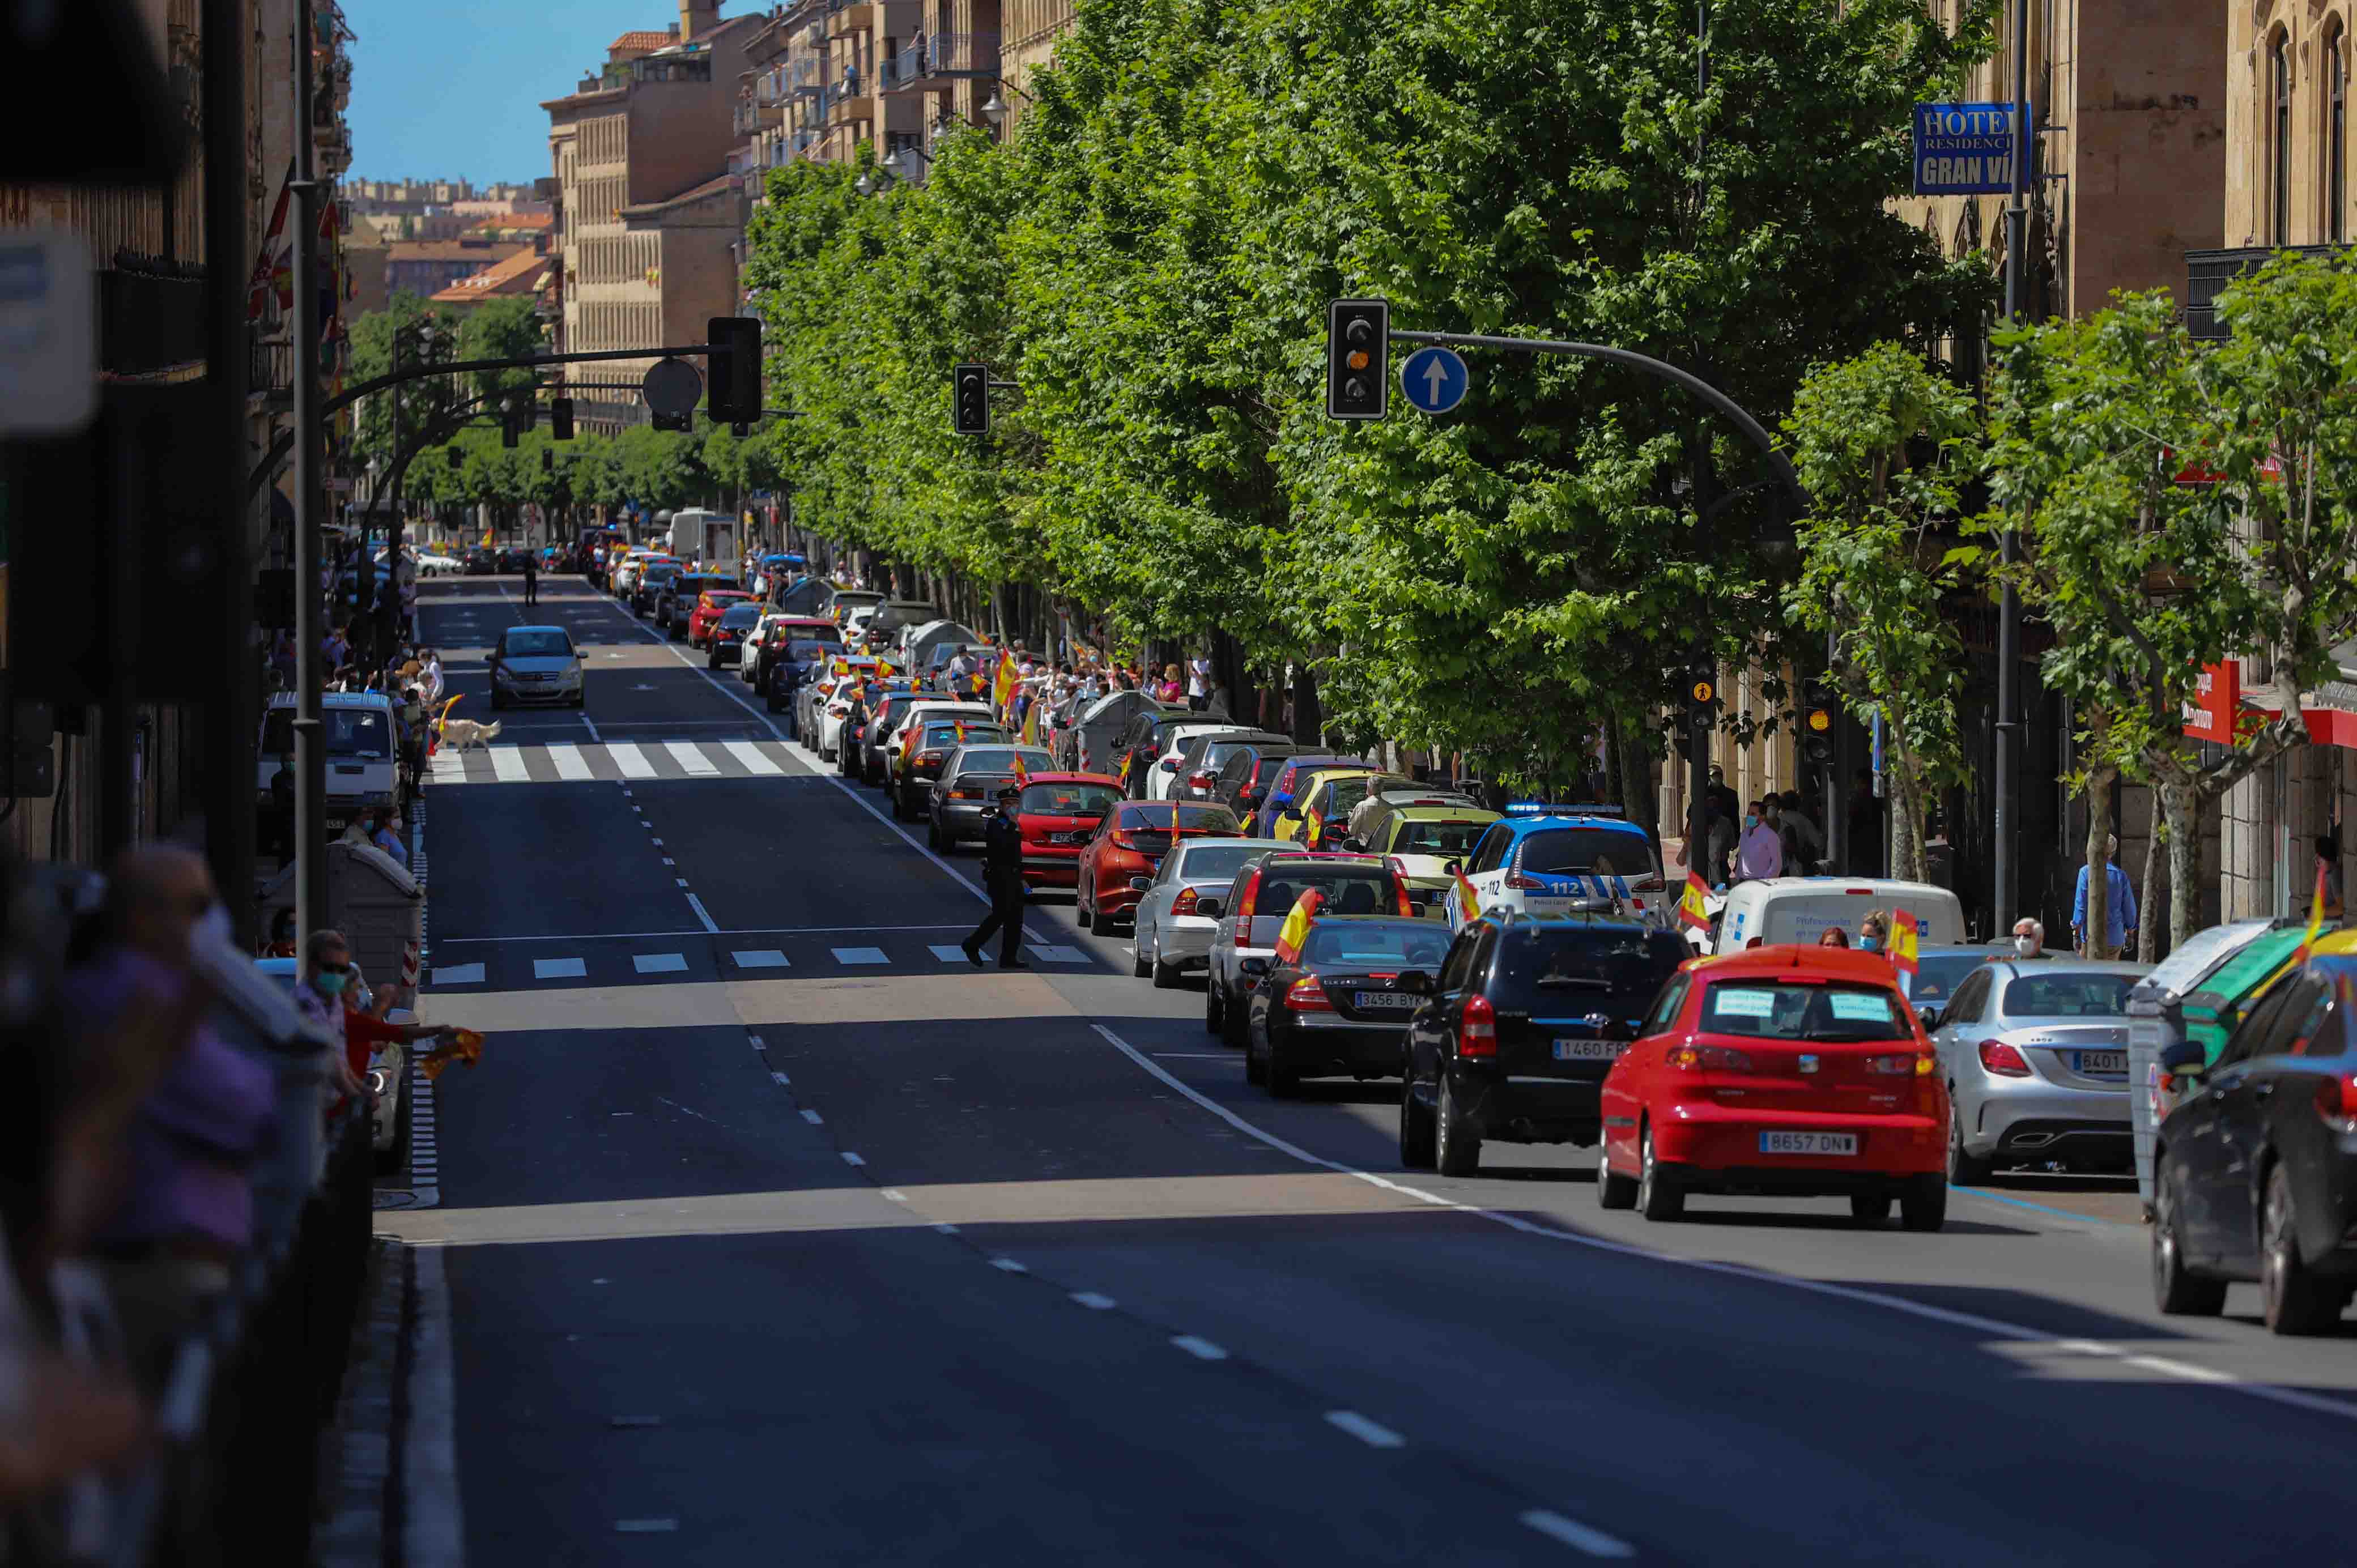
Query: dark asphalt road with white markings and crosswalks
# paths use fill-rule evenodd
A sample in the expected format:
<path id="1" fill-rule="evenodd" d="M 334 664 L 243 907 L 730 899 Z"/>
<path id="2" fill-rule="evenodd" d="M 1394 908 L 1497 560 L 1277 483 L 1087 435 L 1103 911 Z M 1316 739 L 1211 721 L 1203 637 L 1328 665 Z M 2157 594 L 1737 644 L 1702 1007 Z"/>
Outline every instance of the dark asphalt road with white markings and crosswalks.
<path id="1" fill-rule="evenodd" d="M 1277 1103 L 1200 988 L 780 740 L 580 580 L 589 712 L 429 785 L 441 1245 L 474 1561 L 2338 1561 L 2357 1327 L 2150 1306 L 2133 1191 L 1940 1236 L 1841 1203 L 1605 1214 L 1593 1155 L 1402 1174 L 1384 1085 Z M 497 747 L 516 747 L 502 752 Z"/>

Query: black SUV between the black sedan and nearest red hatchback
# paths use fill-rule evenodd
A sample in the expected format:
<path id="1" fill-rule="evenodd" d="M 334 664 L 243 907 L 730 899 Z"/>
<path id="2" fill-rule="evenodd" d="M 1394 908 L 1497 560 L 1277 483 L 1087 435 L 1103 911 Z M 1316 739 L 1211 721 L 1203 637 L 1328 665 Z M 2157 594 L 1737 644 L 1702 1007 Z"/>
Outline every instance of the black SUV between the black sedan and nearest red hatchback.
<path id="1" fill-rule="evenodd" d="M 1671 931 L 1607 915 L 1466 924 L 1407 1023 L 1400 1165 L 1464 1177 L 1483 1139 L 1596 1144 L 1605 1073 L 1685 957 Z"/>

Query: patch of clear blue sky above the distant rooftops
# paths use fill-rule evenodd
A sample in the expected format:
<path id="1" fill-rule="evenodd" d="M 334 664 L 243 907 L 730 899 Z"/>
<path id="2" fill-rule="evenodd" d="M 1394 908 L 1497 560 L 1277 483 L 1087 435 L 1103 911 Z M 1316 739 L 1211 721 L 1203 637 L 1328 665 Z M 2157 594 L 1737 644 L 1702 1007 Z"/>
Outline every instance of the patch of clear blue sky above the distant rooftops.
<path id="1" fill-rule="evenodd" d="M 721 14 L 757 9 L 750 0 Z M 344 0 L 351 45 L 351 172 L 537 179 L 549 167 L 542 99 L 573 92 L 632 28 L 679 21 L 676 0 Z"/>

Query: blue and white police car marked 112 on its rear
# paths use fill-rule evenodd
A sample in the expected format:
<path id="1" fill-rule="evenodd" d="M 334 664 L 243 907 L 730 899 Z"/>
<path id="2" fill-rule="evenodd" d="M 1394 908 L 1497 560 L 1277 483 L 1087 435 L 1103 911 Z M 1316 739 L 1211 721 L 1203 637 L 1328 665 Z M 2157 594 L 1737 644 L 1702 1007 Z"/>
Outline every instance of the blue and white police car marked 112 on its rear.
<path id="1" fill-rule="evenodd" d="M 1452 877 L 1450 927 L 1464 927 L 1475 915 L 1596 910 L 1669 929 L 1676 913 L 1652 835 L 1612 806 L 1513 802 L 1480 835 L 1461 870 L 1480 908 L 1464 908 Z"/>

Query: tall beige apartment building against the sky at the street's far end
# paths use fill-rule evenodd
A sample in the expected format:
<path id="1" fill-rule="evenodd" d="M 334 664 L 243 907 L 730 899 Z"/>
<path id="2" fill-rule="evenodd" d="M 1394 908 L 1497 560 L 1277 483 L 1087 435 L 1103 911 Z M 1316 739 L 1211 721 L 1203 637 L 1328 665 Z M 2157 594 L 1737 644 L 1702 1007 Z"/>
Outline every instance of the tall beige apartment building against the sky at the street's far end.
<path id="1" fill-rule="evenodd" d="M 549 302 L 563 349 L 702 342 L 709 316 L 735 314 L 733 111 L 764 21 L 684 0 L 676 24 L 622 33 L 575 92 L 542 104 L 561 257 Z M 570 375 L 577 417 L 608 431 L 643 422 L 634 389 L 651 363 Z"/>

